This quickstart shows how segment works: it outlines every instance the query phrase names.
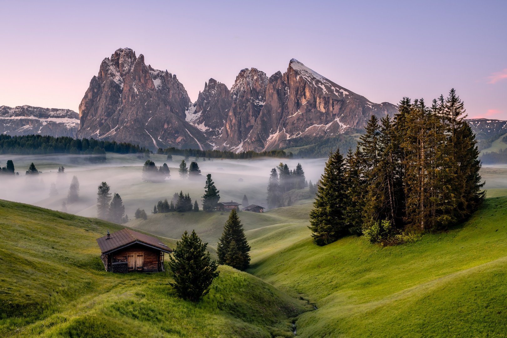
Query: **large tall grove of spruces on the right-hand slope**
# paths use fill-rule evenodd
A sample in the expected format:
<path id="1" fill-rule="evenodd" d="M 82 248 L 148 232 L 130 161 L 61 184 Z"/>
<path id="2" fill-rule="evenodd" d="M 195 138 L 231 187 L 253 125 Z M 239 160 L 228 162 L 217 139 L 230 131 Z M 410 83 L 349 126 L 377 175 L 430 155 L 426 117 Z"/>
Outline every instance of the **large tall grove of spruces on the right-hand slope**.
<path id="1" fill-rule="evenodd" d="M 330 156 L 310 213 L 319 245 L 353 233 L 385 242 L 446 229 L 484 199 L 477 141 L 454 89 L 427 106 L 404 98 L 394 119 L 372 116 L 347 159 Z"/>

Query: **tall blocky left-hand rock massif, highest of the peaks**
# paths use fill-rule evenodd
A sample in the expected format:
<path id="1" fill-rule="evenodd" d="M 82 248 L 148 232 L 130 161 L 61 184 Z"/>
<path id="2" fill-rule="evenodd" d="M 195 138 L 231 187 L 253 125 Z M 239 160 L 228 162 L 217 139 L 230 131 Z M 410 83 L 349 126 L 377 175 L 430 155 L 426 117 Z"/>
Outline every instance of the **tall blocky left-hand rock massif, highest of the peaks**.
<path id="1" fill-rule="evenodd" d="M 79 138 L 131 142 L 151 149 L 210 148 L 185 120 L 190 98 L 175 74 L 120 48 L 105 58 L 79 105 Z"/>

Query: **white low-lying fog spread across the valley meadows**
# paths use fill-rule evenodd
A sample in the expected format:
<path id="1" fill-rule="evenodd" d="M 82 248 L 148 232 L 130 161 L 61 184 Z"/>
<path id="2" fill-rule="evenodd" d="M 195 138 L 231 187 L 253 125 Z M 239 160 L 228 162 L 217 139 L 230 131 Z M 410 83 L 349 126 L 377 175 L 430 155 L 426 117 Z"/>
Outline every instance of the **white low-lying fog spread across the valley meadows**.
<path id="1" fill-rule="evenodd" d="M 0 164 L 5 166 L 8 160 L 14 162 L 15 171 L 19 176 L 0 176 L 2 185 L 2 199 L 33 204 L 53 210 L 62 210 L 62 202 L 67 201 L 67 193 L 73 176 L 78 177 L 80 183 L 80 198 L 78 202 L 67 203 L 69 213 L 81 216 L 96 217 L 97 186 L 105 181 L 111 186 L 111 193 L 118 193 L 125 205 L 125 213 L 133 218 L 137 208 L 150 213 L 158 201 L 170 202 L 174 193 L 183 191 L 189 193 L 192 201 L 197 200 L 199 208 L 201 196 L 204 194 L 206 174 L 211 174 L 216 187 L 220 190 L 221 201 L 234 200 L 241 203 L 246 195 L 250 204 L 266 205 L 266 188 L 271 168 L 280 162 L 286 163 L 290 169 L 301 163 L 307 181 L 315 182 L 323 172 L 325 159 L 273 159 L 259 160 L 222 160 L 211 159 L 198 164 L 202 177 L 198 180 L 180 179 L 179 163 L 183 156 L 173 156 L 172 161 L 165 155 L 150 155 L 150 160 L 157 167 L 167 163 L 170 177 L 162 183 L 145 182 L 142 180 L 142 165 L 146 159 L 139 159 L 135 154 L 106 155 L 107 160 L 100 164 L 90 164 L 80 155 L 0 155 Z M 195 158 L 191 157 L 187 167 Z M 42 171 L 39 175 L 25 175 L 30 163 Z M 65 174 L 58 174 L 58 167 L 65 167 Z M 51 183 L 55 183 L 58 195 L 50 197 Z M 241 206 L 245 207 L 245 206 Z"/>

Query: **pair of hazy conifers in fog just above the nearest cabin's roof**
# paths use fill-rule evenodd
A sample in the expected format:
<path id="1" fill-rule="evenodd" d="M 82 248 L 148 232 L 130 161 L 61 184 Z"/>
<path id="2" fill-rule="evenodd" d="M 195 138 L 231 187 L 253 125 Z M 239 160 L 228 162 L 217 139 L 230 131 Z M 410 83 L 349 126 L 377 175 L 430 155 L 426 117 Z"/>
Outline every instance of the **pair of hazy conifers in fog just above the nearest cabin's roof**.
<path id="1" fill-rule="evenodd" d="M 128 216 L 125 215 L 125 206 L 123 205 L 122 198 L 117 193 L 113 194 L 113 197 L 111 197 L 110 190 L 111 187 L 106 182 L 102 182 L 98 186 L 97 217 L 115 223 L 128 222 Z M 146 215 L 146 213 L 144 214 Z"/>

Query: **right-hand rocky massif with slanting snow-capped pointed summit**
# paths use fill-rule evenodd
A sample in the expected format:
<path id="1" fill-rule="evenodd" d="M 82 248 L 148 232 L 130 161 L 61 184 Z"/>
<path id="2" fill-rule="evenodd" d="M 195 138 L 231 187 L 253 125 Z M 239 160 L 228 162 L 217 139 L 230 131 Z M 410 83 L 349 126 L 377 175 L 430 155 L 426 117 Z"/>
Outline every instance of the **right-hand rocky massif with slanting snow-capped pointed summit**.
<path id="1" fill-rule="evenodd" d="M 267 77 L 243 69 L 230 91 L 232 99 L 220 136 L 209 142 L 221 150 L 268 151 L 292 140 L 318 140 L 362 129 L 372 115 L 393 116 L 395 105 L 373 103 L 324 78 L 296 59 L 285 73 Z M 211 105 L 211 103 L 209 103 Z M 221 111 L 226 111 L 224 105 Z M 206 125 L 204 110 L 192 111 Z"/>

